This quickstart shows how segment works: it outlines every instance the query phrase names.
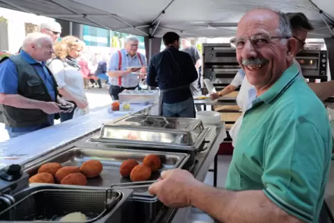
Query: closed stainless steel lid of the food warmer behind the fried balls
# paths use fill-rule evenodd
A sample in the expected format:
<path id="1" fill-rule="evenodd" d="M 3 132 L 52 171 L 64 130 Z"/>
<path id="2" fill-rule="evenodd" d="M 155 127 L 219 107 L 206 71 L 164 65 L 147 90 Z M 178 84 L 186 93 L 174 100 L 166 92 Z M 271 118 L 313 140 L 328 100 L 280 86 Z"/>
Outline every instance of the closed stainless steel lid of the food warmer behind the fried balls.
<path id="1" fill-rule="evenodd" d="M 132 114 L 105 123 L 100 134 L 89 141 L 134 145 L 159 145 L 169 148 L 198 148 L 208 132 L 195 118 L 172 118 Z"/>

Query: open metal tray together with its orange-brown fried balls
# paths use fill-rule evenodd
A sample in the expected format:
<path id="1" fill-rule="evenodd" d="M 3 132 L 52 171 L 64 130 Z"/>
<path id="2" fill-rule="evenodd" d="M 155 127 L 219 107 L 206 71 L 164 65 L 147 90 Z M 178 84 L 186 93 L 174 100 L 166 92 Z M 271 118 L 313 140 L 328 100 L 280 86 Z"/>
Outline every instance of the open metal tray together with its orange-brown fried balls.
<path id="1" fill-rule="evenodd" d="M 132 160 L 132 162 L 137 162 L 139 166 L 142 166 L 143 159 L 145 157 L 150 157 L 149 155 L 154 154 L 156 157 L 159 157 L 160 165 L 157 166 L 154 170 L 150 171 L 150 176 L 144 177 L 148 181 L 148 184 L 145 184 L 143 180 L 141 180 L 141 176 L 145 173 L 139 170 L 139 176 L 130 177 L 131 170 L 128 170 L 128 175 L 126 173 L 127 162 Z M 146 158 L 147 159 L 147 158 Z M 59 179 L 62 169 L 68 170 L 70 172 L 78 172 L 80 174 L 80 170 L 82 170 L 82 163 L 87 163 L 87 161 L 99 161 L 103 170 L 96 177 L 89 177 L 86 172 L 81 173 L 87 177 L 87 183 L 85 185 L 77 184 L 80 186 L 98 186 L 98 187 L 111 187 L 115 186 L 119 188 L 120 186 L 131 186 L 132 184 L 138 184 L 139 182 L 143 185 L 143 187 L 134 188 L 134 194 L 141 194 L 149 196 L 148 194 L 148 186 L 152 181 L 159 179 L 160 173 L 163 170 L 170 170 L 174 168 L 183 168 L 186 162 L 189 159 L 189 154 L 186 153 L 177 153 L 177 152 L 161 152 L 161 151 L 146 151 L 146 150 L 130 150 L 130 149 L 117 149 L 117 148 L 85 148 L 85 147 L 72 147 L 67 150 L 60 152 L 59 154 L 52 154 L 49 157 L 46 156 L 44 159 L 39 160 L 38 163 L 28 163 L 24 167 L 24 171 L 30 175 L 30 179 L 37 175 L 37 173 L 47 172 L 41 170 L 41 166 L 45 166 L 46 164 L 56 165 L 58 163 L 59 170 L 49 171 L 54 175 L 54 184 L 61 184 L 61 179 Z M 123 164 L 123 177 L 121 175 L 121 166 Z M 130 161 L 131 163 L 131 161 Z M 131 166 L 131 164 L 130 164 Z M 71 169 L 71 170 L 69 170 Z M 94 166 L 87 166 L 87 169 L 94 170 Z M 140 169 L 140 167 L 137 167 Z M 145 169 L 145 168 L 143 168 Z M 125 173 L 124 173 L 125 170 Z M 52 173 L 53 172 L 53 173 Z M 63 171 L 64 172 L 64 171 Z M 64 174 L 62 174 L 64 175 Z M 63 177 L 63 176 L 62 176 Z M 137 178 L 137 179 L 136 179 Z M 62 178 L 64 179 L 64 177 Z M 63 181 L 63 180 L 62 180 Z M 52 181 L 37 181 L 38 183 L 53 183 Z M 30 181 L 32 183 L 32 181 Z M 65 183 L 66 184 L 66 183 Z M 73 185 L 76 185 L 75 183 Z"/>

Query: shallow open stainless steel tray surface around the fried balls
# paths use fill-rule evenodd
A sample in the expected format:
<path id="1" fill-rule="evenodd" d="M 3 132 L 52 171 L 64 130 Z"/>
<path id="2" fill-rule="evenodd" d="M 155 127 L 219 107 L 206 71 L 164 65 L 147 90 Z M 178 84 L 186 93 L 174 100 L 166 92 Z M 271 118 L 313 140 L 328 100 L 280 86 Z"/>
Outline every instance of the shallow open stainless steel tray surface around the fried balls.
<path id="1" fill-rule="evenodd" d="M 163 170 L 183 168 L 190 157 L 189 154 L 177 152 L 72 147 L 59 154 L 49 155 L 49 157 L 47 156 L 45 159 L 27 163 L 23 170 L 26 171 L 28 175 L 33 176 L 44 163 L 56 162 L 61 163 L 62 166 L 80 166 L 87 160 L 95 159 L 103 164 L 103 172 L 101 172 L 99 177 L 88 179 L 87 186 L 110 187 L 113 184 L 131 183 L 129 178 L 121 177 L 119 173 L 119 168 L 123 161 L 135 159 L 141 163 L 143 158 L 148 154 L 157 154 L 161 159 L 161 169 L 157 172 L 152 172 L 148 181 L 158 179 Z M 152 197 L 148 194 L 147 190 L 147 186 L 134 189 L 140 196 Z"/>

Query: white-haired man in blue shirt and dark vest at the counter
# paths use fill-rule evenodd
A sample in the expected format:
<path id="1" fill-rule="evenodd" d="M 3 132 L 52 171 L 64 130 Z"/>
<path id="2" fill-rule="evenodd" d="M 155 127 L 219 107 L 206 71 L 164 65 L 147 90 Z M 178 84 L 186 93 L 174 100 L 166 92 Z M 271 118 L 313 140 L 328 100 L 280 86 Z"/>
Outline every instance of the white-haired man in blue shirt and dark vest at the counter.
<path id="1" fill-rule="evenodd" d="M 61 111 L 60 105 L 67 105 L 58 95 L 57 84 L 45 65 L 52 53 L 53 42 L 48 35 L 30 33 L 24 39 L 19 56 L 34 71 L 26 68 L 28 76 L 21 76 L 24 80 L 19 80 L 15 63 L 10 58 L 1 62 L 0 104 L 10 138 L 53 125 L 55 114 Z M 37 78 L 33 77 L 34 72 L 38 74 Z M 48 100 L 33 99 L 43 93 Z M 44 119 L 34 120 L 32 117 L 38 117 L 39 113 Z"/>

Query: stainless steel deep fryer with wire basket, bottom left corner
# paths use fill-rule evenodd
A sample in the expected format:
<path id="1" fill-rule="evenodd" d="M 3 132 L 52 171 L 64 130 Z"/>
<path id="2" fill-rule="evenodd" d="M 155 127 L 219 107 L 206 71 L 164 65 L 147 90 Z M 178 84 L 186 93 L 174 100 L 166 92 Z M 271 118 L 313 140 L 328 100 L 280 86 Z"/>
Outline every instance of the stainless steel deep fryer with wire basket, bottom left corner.
<path id="1" fill-rule="evenodd" d="M 0 215 L 0 220 L 50 222 L 57 221 L 69 213 L 81 212 L 87 216 L 88 222 L 103 223 L 112 220 L 121 223 L 118 215 L 130 195 L 132 190 L 127 189 L 30 184 L 13 195 L 15 204 Z M 106 201 L 112 202 L 112 206 L 107 209 Z"/>

